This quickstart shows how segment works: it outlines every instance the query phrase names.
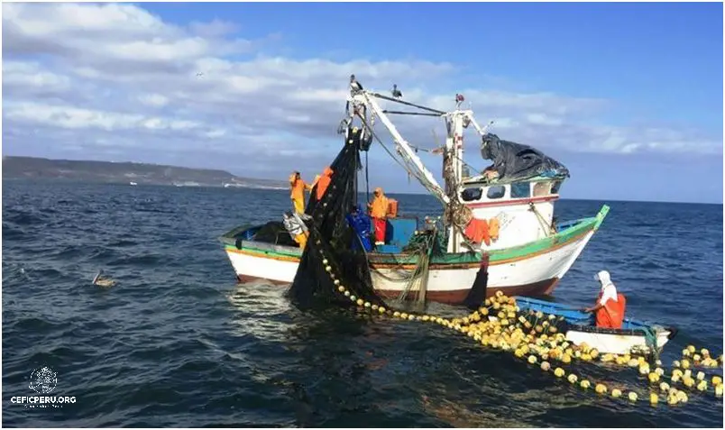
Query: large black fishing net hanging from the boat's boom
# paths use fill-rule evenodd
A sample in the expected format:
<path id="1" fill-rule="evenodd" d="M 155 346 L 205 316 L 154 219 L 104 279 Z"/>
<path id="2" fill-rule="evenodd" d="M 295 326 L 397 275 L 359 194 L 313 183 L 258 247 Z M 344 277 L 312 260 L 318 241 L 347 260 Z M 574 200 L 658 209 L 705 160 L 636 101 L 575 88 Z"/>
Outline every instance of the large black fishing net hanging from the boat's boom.
<path id="1" fill-rule="evenodd" d="M 287 295 L 298 307 L 331 303 L 354 305 L 348 297 L 384 305 L 372 288 L 367 254 L 345 215 L 357 206 L 357 172 L 361 168 L 360 133 L 351 133 L 330 165 L 333 175 L 325 194 L 310 193 L 306 214 L 309 238 Z M 347 297 L 340 292 L 346 288 Z"/>

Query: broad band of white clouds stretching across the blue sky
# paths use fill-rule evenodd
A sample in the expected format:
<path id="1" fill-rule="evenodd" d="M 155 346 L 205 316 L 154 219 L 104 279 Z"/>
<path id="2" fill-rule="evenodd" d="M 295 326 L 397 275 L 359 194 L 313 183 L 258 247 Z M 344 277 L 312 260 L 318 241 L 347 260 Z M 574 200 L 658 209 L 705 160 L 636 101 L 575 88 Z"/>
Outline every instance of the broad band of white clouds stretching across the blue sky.
<path id="1" fill-rule="evenodd" d="M 459 71 L 450 63 L 269 56 L 265 47 L 283 41 L 279 33 L 244 39 L 236 37 L 243 28 L 235 23 L 177 25 L 135 5 L 4 4 L 3 13 L 10 152 L 41 151 L 43 142 L 54 154 L 106 152 L 158 162 L 186 154 L 186 164 L 236 172 L 319 169 L 335 156 L 351 73 L 368 88 L 387 92 L 396 82 L 408 100 L 454 105 L 455 91 L 442 94 Z M 722 151 L 720 136 L 697 130 L 601 124 L 598 115 L 612 108 L 607 100 L 461 91 L 481 124 L 493 120 L 494 133 L 546 152 Z M 421 147 L 434 146 L 434 126 L 439 140 L 443 135 L 439 119 L 395 121 Z M 468 151 L 479 160 L 475 143 Z"/>

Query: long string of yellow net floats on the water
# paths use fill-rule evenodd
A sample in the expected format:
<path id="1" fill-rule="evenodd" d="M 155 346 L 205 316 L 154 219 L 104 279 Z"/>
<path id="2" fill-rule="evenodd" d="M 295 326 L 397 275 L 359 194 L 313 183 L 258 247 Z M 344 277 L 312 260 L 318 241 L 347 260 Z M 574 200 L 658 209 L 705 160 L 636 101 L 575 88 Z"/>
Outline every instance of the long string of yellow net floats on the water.
<path id="1" fill-rule="evenodd" d="M 653 371 L 650 363 L 643 356 L 633 356 L 629 353 L 621 355 L 601 354 L 586 343 L 574 345 L 567 342 L 565 335 L 559 333 L 555 325 L 556 316 L 546 316 L 542 312 L 531 312 L 528 317 L 520 315 L 516 300 L 513 297 L 506 297 L 501 291 L 497 291 L 494 297 L 485 299 L 483 306 L 468 316 L 449 319 L 441 316 L 418 315 L 393 311 L 384 306 L 373 305 L 370 301 L 364 300 L 363 297 L 354 296 L 341 284 L 339 279 L 335 279 L 333 269 L 326 259 L 323 260 L 323 264 L 326 265 L 325 269 L 330 274 L 331 279 L 334 279 L 337 291 L 350 298 L 361 309 L 368 312 L 377 311 L 380 315 L 387 315 L 401 320 L 423 321 L 442 325 L 465 334 L 467 337 L 472 338 L 474 342 L 481 343 L 484 347 L 512 352 L 514 356 L 527 361 L 530 365 L 537 365 L 538 363 L 537 367 L 541 371 L 548 372 L 552 369 L 550 361 L 558 361 L 562 365 L 568 365 L 574 361 L 599 361 L 609 365 L 629 366 L 636 369 L 640 376 L 645 377 L 654 389 L 658 388 L 662 393 L 665 393 L 666 403 L 670 406 L 686 403 L 689 399 L 684 390 L 675 389 L 671 384 L 682 383 L 686 389 L 699 392 L 705 392 L 711 388 L 716 397 L 721 398 L 723 395 L 722 377 L 714 375 L 711 377 L 710 383 L 708 383 L 707 375 L 703 371 L 697 371 L 693 375 L 693 366 L 717 368 L 722 365 L 722 356 L 713 359 L 710 352 L 705 348 L 698 352 L 693 345 L 688 345 L 683 350 L 682 360 L 673 362 L 674 369 L 668 376 L 661 367 L 661 361 L 655 361 L 654 365 L 656 367 Z M 574 373 L 567 375 L 561 365 L 555 368 L 553 374 L 556 379 L 567 380 L 572 386 L 584 391 L 592 388 L 590 380 L 580 378 Z M 668 379 L 670 383 L 663 379 Z M 635 391 L 628 391 L 624 396 L 621 389 L 609 389 L 601 382 L 594 384 L 594 391 L 600 395 L 609 392 L 611 398 L 625 397 L 632 403 L 637 402 L 639 398 L 638 393 Z M 660 400 L 656 391 L 651 391 L 646 398 L 652 406 L 656 406 Z"/>

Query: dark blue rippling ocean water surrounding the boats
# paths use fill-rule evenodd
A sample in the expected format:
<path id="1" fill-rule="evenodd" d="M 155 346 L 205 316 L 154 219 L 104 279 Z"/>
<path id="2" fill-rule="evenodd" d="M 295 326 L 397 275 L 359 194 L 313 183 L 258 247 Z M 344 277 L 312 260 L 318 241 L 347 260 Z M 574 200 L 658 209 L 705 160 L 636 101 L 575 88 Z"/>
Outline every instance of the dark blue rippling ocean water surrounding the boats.
<path id="1" fill-rule="evenodd" d="M 279 217 L 283 191 L 5 181 L 2 196 L 5 426 L 723 424 L 712 394 L 631 405 L 438 325 L 303 313 L 284 288 L 237 285 L 216 238 Z M 397 198 L 406 214 L 437 209 Z M 602 203 L 562 200 L 556 216 Z M 555 300 L 591 305 L 593 274 L 610 270 L 629 316 L 679 328 L 665 365 L 688 343 L 721 353 L 722 206 L 606 203 Z M 92 286 L 98 269 L 116 285 Z M 35 395 L 30 375 L 44 366 L 57 374 L 50 395 L 76 402 L 12 403 Z M 636 371 L 591 372 L 647 392 Z"/>

